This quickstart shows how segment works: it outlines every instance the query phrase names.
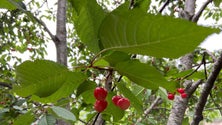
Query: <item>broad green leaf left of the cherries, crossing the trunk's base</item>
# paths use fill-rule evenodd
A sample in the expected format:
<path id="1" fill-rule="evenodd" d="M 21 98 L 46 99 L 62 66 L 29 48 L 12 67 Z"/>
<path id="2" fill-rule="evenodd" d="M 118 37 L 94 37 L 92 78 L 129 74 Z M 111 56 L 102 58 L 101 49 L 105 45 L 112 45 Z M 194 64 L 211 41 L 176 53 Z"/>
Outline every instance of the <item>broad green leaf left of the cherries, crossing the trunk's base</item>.
<path id="1" fill-rule="evenodd" d="M 32 100 L 43 103 L 67 97 L 86 79 L 80 72 L 47 60 L 22 63 L 16 68 L 16 78 L 19 84 L 14 85 L 14 92 L 22 97 L 32 95 Z"/>

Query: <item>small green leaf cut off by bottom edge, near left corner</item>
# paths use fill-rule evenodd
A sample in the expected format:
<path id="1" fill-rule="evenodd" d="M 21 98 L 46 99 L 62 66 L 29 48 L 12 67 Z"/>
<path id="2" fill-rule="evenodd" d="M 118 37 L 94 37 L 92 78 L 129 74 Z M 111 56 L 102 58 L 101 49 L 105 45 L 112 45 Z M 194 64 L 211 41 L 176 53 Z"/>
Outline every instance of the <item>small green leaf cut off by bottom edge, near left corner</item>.
<path id="1" fill-rule="evenodd" d="M 19 115 L 13 125 L 30 125 L 32 122 L 35 121 L 35 117 L 32 115 L 31 112 L 27 112 L 25 114 Z"/>

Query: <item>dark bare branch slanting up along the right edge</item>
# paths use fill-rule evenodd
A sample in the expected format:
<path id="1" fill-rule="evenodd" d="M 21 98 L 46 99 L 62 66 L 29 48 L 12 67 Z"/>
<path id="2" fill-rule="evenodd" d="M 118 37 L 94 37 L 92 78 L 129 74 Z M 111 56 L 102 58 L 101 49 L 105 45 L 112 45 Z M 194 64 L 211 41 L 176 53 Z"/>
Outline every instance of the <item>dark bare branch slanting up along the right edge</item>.
<path id="1" fill-rule="evenodd" d="M 214 63 L 213 70 L 210 76 L 208 77 L 206 84 L 204 85 L 204 88 L 201 92 L 201 96 L 195 108 L 194 118 L 191 125 L 198 125 L 199 122 L 203 119 L 202 112 L 204 110 L 204 106 L 207 102 L 208 96 L 210 95 L 211 89 L 214 86 L 214 82 L 220 73 L 221 68 L 222 68 L 222 53 L 220 57 L 217 59 L 217 61 Z"/>

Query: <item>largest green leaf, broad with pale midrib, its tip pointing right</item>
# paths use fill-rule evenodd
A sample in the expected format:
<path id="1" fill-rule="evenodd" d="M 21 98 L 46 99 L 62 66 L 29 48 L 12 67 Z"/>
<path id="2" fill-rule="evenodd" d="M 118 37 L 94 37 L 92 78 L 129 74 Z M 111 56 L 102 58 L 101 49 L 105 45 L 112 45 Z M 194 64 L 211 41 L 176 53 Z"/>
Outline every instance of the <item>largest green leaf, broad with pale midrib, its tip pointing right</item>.
<path id="1" fill-rule="evenodd" d="M 106 16 L 99 37 L 103 51 L 178 58 L 193 51 L 214 32 L 219 30 L 197 26 L 187 20 L 152 15 L 141 9 L 119 7 Z"/>

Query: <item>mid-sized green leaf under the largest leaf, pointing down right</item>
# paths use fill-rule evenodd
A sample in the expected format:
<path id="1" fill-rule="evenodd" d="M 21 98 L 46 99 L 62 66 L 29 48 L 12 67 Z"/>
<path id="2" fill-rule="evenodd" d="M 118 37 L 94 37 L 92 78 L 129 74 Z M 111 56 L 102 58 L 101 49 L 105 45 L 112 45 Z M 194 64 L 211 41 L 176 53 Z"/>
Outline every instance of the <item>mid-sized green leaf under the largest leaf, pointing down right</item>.
<path id="1" fill-rule="evenodd" d="M 160 86 L 169 91 L 175 90 L 175 84 L 168 82 L 154 67 L 137 60 L 120 62 L 114 67 L 121 75 L 128 77 L 136 84 L 156 90 Z"/>

